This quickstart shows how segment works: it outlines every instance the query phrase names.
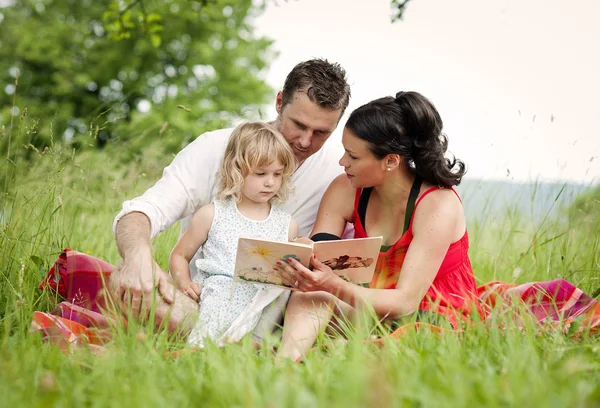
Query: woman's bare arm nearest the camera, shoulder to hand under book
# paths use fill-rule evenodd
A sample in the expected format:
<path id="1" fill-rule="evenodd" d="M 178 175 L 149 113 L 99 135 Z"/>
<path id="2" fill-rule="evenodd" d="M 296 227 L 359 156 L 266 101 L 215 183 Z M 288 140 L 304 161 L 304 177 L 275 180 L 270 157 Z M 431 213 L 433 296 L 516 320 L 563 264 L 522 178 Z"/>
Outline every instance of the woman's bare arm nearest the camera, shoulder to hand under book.
<path id="1" fill-rule="evenodd" d="M 298 289 L 303 292 L 326 291 L 355 308 L 372 307 L 381 318 L 397 319 L 419 307 L 455 240 L 457 223 L 463 219 L 462 205 L 450 190 L 432 193 L 421 202 L 413 221 L 414 238 L 395 289 L 370 289 L 346 282 L 316 259 L 312 271 L 292 260 L 294 268 L 286 267 L 286 275 L 290 282 L 298 279 Z"/>

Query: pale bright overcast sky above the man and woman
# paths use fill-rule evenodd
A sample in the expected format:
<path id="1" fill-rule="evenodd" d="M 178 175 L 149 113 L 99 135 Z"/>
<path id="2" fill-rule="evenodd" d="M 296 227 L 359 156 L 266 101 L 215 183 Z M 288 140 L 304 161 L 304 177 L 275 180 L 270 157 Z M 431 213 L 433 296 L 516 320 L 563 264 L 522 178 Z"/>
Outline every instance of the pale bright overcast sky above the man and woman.
<path id="1" fill-rule="evenodd" d="M 598 183 L 599 15 L 597 0 L 412 0 L 392 23 L 389 0 L 273 0 L 255 34 L 275 40 L 276 90 L 323 57 L 348 72 L 348 113 L 400 90 L 428 97 L 469 178 Z"/>

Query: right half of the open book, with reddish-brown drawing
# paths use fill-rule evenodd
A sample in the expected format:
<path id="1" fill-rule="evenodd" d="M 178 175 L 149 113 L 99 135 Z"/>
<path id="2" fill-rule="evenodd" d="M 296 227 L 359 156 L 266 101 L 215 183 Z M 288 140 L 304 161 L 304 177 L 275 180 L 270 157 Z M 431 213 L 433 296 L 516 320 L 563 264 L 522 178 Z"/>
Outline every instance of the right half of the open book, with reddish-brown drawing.
<path id="1" fill-rule="evenodd" d="M 319 241 L 314 244 L 317 259 L 349 282 L 371 282 L 381 250 L 382 237 Z"/>

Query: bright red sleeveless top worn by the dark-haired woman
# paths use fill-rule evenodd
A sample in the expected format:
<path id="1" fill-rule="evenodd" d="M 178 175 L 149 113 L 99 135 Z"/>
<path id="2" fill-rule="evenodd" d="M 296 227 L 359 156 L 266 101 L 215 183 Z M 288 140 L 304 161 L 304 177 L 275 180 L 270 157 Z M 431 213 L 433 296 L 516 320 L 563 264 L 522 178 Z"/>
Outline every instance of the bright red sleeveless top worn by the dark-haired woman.
<path id="1" fill-rule="evenodd" d="M 415 210 L 427 194 L 439 188 L 432 187 L 425 191 L 416 201 Z M 355 238 L 368 237 L 358 212 L 361 192 L 362 189 L 357 189 L 356 199 L 354 200 Z M 456 191 L 454 193 L 456 194 Z M 413 239 L 413 219 L 414 211 L 410 218 L 408 230 L 387 251 L 379 253 L 379 258 L 375 266 L 375 274 L 369 287 L 377 289 L 394 289 L 396 287 L 402 270 L 402 264 L 404 263 L 404 257 Z M 431 287 L 419 304 L 419 310 L 440 313 L 455 328 L 458 326 L 458 321 L 467 319 L 473 310 L 481 312 L 468 250 L 469 235 L 465 231 L 465 235 L 460 240 L 452 243 L 448 248 L 448 252 L 442 261 Z"/>

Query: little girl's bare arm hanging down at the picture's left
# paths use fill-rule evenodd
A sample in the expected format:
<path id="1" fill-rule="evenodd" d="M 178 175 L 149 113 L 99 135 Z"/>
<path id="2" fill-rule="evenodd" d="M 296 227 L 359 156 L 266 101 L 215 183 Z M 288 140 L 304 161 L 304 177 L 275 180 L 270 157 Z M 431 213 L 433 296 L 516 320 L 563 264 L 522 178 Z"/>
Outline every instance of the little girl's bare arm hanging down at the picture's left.
<path id="1" fill-rule="evenodd" d="M 171 251 L 169 270 L 180 288 L 185 288 L 192 282 L 190 276 L 190 261 L 208 237 L 215 214 L 214 204 L 201 207 L 192 217 L 190 225 Z"/>

